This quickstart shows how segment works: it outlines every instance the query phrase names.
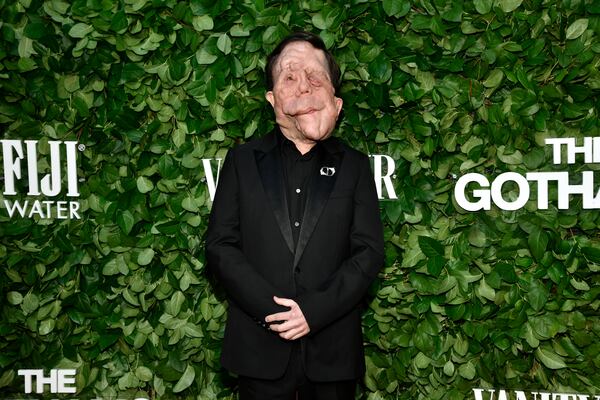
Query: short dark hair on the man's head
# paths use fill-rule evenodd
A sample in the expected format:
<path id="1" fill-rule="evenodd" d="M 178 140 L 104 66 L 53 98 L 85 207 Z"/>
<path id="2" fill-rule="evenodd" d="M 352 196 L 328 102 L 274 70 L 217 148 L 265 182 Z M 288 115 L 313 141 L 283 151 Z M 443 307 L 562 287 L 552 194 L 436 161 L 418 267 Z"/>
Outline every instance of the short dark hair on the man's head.
<path id="1" fill-rule="evenodd" d="M 267 66 L 265 68 L 265 75 L 267 78 L 267 90 L 273 90 L 273 68 L 275 67 L 275 63 L 277 62 L 279 55 L 288 44 L 293 42 L 308 42 L 315 49 L 322 50 L 323 53 L 325 53 L 325 60 L 327 60 L 327 67 L 329 70 L 329 79 L 331 80 L 331 84 L 333 85 L 333 89 L 335 90 L 335 95 L 338 96 L 340 86 L 342 84 L 340 66 L 335 61 L 335 58 L 333 58 L 333 55 L 327 50 L 325 43 L 319 36 L 304 31 L 294 32 L 287 36 L 281 41 L 281 43 L 277 45 L 277 47 L 275 47 L 275 49 L 267 57 Z"/>

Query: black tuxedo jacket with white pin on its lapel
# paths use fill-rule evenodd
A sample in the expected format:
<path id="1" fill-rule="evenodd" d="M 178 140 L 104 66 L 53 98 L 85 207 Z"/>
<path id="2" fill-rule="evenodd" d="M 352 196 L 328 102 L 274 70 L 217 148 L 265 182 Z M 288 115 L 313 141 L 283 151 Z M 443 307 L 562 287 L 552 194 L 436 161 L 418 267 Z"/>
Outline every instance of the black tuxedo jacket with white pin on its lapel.
<path id="1" fill-rule="evenodd" d="M 283 375 L 292 342 L 264 318 L 294 299 L 310 327 L 300 339 L 314 381 L 364 373 L 359 305 L 383 265 L 383 229 L 368 157 L 336 138 L 324 142 L 310 178 L 294 247 L 276 135 L 230 150 L 219 176 L 206 239 L 209 267 L 229 312 L 221 362 L 239 375 Z"/>

